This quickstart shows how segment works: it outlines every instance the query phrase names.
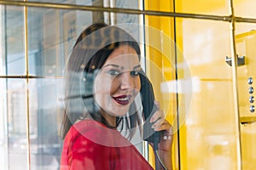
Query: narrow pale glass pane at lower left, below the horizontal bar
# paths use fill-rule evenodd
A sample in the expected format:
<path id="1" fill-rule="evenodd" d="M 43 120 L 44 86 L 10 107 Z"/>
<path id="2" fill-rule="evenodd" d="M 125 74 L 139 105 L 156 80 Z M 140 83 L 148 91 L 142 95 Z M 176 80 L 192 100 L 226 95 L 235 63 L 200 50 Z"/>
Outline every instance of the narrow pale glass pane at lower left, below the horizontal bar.
<path id="1" fill-rule="evenodd" d="M 9 169 L 27 169 L 26 81 L 7 80 Z"/>

